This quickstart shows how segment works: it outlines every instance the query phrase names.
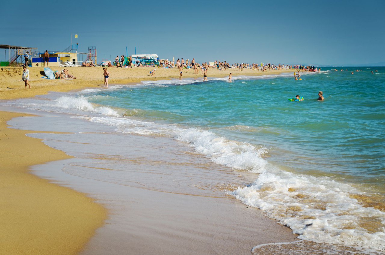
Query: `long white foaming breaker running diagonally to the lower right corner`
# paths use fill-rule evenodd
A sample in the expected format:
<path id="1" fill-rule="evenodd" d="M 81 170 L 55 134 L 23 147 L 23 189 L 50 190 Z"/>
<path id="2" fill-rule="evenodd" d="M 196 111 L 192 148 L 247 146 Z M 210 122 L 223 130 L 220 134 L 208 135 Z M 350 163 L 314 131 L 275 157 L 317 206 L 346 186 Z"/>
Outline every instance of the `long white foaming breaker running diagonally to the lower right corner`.
<path id="1" fill-rule="evenodd" d="M 85 118 L 115 126 L 118 132 L 167 135 L 189 143 L 216 164 L 258 173 L 253 184 L 228 194 L 263 210 L 300 239 L 385 250 L 385 213 L 365 207 L 357 199 L 364 194 L 349 184 L 282 171 L 263 159 L 266 148 L 232 141 L 212 131 L 128 118 Z"/>

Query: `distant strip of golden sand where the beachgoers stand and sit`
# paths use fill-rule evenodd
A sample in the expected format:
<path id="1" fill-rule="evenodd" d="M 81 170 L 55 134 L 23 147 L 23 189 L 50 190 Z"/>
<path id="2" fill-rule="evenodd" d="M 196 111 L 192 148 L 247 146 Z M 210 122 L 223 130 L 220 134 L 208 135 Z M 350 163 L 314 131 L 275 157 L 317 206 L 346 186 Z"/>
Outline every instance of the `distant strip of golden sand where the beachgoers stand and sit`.
<path id="1" fill-rule="evenodd" d="M 62 67 L 63 68 L 63 67 Z M 60 70 L 59 67 L 51 67 L 53 71 Z M 84 89 L 92 87 L 103 86 L 104 76 L 102 67 L 68 67 L 69 73 L 74 75 L 77 79 L 42 79 L 44 76 L 44 68 L 29 67 L 30 71 L 30 89 L 25 89 L 24 82 L 21 81 L 20 74 L 11 73 L 6 74 L 4 71 L 0 72 L 0 99 L 15 99 L 26 98 L 41 94 L 47 94 L 49 91 L 65 92 L 74 89 Z M 144 79 L 158 80 L 158 79 L 179 79 L 179 70 L 177 68 L 156 68 L 155 78 L 149 75 L 149 72 L 154 69 L 151 67 L 136 67 L 136 68 L 108 68 L 110 73 L 109 84 L 127 84 L 138 82 Z M 271 71 L 256 71 L 251 69 L 244 69 L 238 71 L 238 68 L 227 69 L 219 71 L 217 69 L 208 69 L 209 77 L 226 77 L 231 73 L 233 76 L 237 75 L 272 75 L 282 72 L 292 72 L 293 70 L 271 70 Z M 184 69 L 182 79 L 184 78 L 202 78 L 203 74 L 199 70 L 198 75 L 194 75 L 193 69 Z"/>

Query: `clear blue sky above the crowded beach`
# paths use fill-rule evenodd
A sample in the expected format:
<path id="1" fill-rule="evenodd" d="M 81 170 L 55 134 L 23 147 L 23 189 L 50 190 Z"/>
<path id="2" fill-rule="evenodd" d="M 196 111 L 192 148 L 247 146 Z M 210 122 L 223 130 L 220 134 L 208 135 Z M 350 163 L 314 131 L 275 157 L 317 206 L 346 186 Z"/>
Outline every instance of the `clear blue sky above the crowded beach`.
<path id="1" fill-rule="evenodd" d="M 126 55 L 126 47 L 128 55 L 136 47 L 137 54 L 198 62 L 385 63 L 385 0 L 18 0 L 0 6 L 7 20 L 0 23 L 0 44 L 62 51 L 72 33 L 79 52 L 97 48 L 98 63 Z"/>

